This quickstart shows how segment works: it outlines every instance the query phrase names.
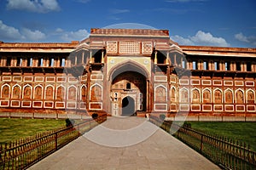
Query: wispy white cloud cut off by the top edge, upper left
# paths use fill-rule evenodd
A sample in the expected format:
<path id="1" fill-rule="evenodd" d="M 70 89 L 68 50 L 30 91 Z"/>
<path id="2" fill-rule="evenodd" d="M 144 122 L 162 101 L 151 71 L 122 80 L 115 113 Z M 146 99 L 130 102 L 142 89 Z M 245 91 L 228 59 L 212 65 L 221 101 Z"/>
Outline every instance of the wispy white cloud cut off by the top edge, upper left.
<path id="1" fill-rule="evenodd" d="M 56 0 L 8 0 L 7 8 L 37 13 L 60 10 L 60 6 Z"/>

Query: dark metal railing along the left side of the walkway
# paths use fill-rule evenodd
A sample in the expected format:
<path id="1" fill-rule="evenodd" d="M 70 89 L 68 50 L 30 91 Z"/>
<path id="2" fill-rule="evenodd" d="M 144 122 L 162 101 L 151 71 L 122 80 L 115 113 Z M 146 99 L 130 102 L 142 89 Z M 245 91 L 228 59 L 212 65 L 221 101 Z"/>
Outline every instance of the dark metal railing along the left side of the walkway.
<path id="1" fill-rule="evenodd" d="M 0 169 L 26 169 L 106 120 L 107 115 L 103 115 L 70 127 L 1 144 Z"/>

